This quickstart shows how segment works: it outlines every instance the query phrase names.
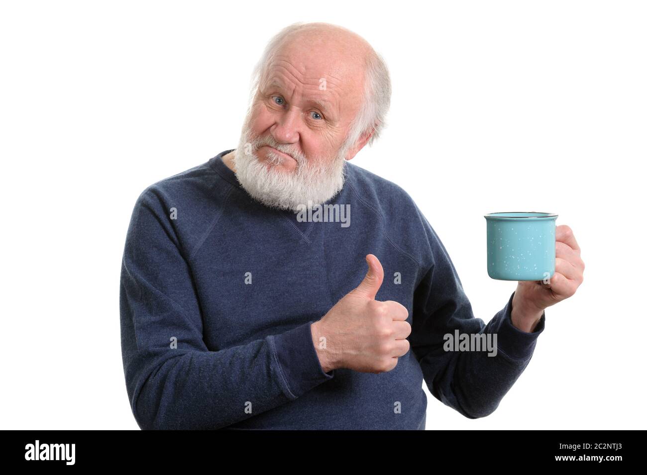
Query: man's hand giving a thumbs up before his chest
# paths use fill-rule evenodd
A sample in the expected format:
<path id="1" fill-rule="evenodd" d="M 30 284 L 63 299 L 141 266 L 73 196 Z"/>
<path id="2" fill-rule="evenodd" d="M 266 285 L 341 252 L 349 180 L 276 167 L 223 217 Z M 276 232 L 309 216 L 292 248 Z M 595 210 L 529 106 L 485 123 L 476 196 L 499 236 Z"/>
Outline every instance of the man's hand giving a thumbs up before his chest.
<path id="1" fill-rule="evenodd" d="M 335 368 L 386 372 L 409 351 L 409 312 L 398 302 L 375 300 L 384 270 L 373 254 L 366 256 L 366 262 L 364 280 L 311 325 L 314 348 L 324 372 Z M 320 344 L 321 337 L 325 337 L 325 347 Z"/>

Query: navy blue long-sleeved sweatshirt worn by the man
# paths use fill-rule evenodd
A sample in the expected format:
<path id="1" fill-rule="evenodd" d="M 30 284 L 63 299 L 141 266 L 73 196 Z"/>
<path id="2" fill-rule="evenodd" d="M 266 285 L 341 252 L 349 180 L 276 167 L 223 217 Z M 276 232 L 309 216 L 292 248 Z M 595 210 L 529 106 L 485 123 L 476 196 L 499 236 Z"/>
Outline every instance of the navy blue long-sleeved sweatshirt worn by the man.
<path id="1" fill-rule="evenodd" d="M 424 429 L 431 394 L 465 417 L 494 411 L 529 363 L 512 297 L 484 324 L 432 226 L 398 185 L 345 162 L 347 224 L 253 200 L 223 162 L 150 185 L 127 231 L 120 281 L 126 388 L 142 429 Z M 323 372 L 310 326 L 384 268 L 375 299 L 404 305 L 410 351 L 381 374 Z M 444 335 L 496 333 L 497 352 Z"/>

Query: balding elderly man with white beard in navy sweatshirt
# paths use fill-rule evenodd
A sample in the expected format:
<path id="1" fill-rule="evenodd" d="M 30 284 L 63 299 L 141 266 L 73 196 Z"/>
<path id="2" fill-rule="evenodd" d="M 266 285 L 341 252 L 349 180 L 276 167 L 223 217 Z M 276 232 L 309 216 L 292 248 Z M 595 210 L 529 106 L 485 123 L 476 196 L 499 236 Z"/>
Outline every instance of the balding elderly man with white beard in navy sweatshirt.
<path id="1" fill-rule="evenodd" d="M 141 428 L 423 429 L 423 380 L 465 417 L 497 408 L 543 310 L 582 282 L 580 250 L 559 226 L 551 282 L 519 282 L 487 325 L 475 318 L 410 196 L 347 162 L 390 93 L 364 39 L 291 25 L 254 70 L 237 148 L 139 196 L 120 309 Z M 496 334 L 496 354 L 446 351 L 455 330 Z"/>

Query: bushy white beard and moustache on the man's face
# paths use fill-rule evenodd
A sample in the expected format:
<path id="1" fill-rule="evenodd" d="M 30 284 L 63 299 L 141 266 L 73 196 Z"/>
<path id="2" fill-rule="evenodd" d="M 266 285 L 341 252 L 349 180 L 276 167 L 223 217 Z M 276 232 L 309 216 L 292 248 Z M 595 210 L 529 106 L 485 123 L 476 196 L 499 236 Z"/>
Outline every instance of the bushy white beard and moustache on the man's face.
<path id="1" fill-rule="evenodd" d="M 234 151 L 236 178 L 252 198 L 265 206 L 297 213 L 303 207 L 309 209 L 323 204 L 344 187 L 344 158 L 348 149 L 346 142 L 331 161 L 321 156 L 307 158 L 293 145 L 277 143 L 271 136 L 256 137 L 254 140 L 249 140 L 249 136 L 246 121 L 240 142 Z M 270 164 L 260 160 L 256 151 L 263 145 L 270 145 L 291 155 L 297 162 L 296 169 L 276 169 L 276 165 L 284 158 L 272 151 L 267 154 Z"/>

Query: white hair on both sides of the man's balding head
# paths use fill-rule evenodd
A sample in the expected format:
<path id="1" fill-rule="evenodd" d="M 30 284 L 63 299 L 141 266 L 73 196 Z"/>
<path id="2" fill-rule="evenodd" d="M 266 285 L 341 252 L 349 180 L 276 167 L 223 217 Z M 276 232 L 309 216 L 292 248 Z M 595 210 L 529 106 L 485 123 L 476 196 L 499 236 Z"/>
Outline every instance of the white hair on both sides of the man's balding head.
<path id="1" fill-rule="evenodd" d="M 252 72 L 248 112 L 251 110 L 252 101 L 254 101 L 256 92 L 258 92 L 260 81 L 265 76 L 267 66 L 272 60 L 276 48 L 281 45 L 286 36 L 309 25 L 311 23 L 305 23 L 303 21 L 292 23 L 292 25 L 286 26 L 276 35 L 272 36 L 267 43 L 263 54 L 261 54 L 261 58 L 256 63 L 256 66 L 254 66 Z M 361 136 L 373 131 L 373 135 L 367 142 L 369 146 L 373 145 L 373 142 L 380 136 L 380 133 L 387 125 L 386 114 L 391 105 L 391 78 L 386 62 L 372 48 L 366 57 L 365 70 L 364 98 L 355 119 L 351 122 L 344 144 L 354 144 Z"/>

